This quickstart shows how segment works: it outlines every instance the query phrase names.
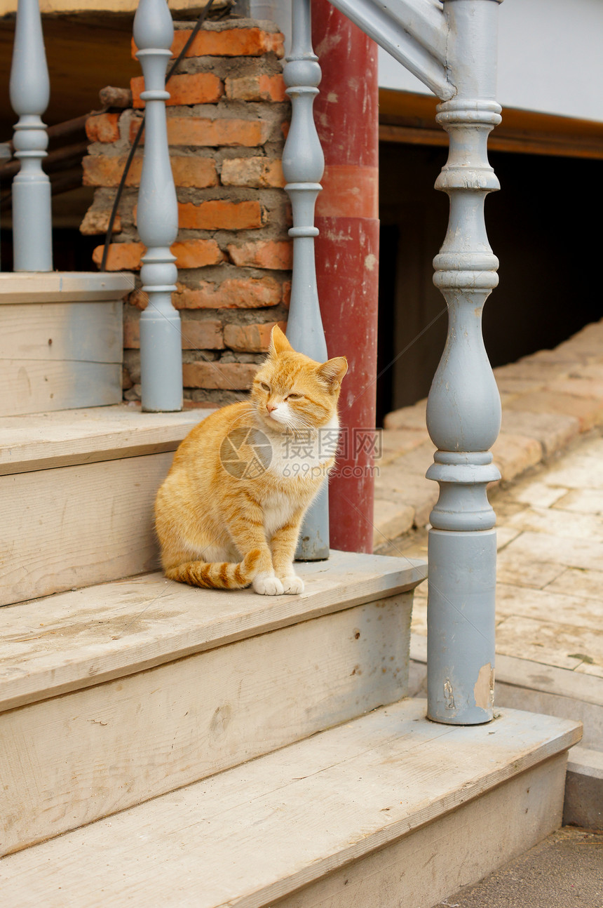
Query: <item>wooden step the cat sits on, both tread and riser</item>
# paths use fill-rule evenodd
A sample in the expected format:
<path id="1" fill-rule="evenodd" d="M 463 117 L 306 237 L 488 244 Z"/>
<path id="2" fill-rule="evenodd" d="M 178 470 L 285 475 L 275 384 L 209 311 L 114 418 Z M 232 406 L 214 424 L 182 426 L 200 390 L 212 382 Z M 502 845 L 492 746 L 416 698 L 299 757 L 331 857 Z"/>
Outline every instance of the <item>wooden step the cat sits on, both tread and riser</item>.
<path id="1" fill-rule="evenodd" d="M 298 569 L 301 596 L 151 574 L 0 609 L 0 853 L 405 696 L 424 564 Z"/>

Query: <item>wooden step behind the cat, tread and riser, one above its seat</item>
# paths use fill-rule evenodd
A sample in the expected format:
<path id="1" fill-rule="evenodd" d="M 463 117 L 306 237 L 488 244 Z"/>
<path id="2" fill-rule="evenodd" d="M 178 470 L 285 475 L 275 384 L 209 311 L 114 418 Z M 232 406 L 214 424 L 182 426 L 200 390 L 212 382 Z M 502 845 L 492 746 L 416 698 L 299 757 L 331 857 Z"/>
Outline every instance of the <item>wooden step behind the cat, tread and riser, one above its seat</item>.
<path id="1" fill-rule="evenodd" d="M 0 605 L 159 567 L 153 500 L 208 412 L 119 404 L 0 419 Z"/>

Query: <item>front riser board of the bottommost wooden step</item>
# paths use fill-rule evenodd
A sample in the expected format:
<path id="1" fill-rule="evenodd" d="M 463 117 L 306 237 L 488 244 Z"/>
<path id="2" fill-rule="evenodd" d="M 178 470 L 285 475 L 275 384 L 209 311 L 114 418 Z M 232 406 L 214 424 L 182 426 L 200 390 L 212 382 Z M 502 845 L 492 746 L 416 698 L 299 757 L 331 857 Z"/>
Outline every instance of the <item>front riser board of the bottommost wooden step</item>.
<path id="1" fill-rule="evenodd" d="M 270 908 L 458 908 L 451 896 L 463 886 L 559 829 L 566 762 L 565 754 L 553 757 Z"/>

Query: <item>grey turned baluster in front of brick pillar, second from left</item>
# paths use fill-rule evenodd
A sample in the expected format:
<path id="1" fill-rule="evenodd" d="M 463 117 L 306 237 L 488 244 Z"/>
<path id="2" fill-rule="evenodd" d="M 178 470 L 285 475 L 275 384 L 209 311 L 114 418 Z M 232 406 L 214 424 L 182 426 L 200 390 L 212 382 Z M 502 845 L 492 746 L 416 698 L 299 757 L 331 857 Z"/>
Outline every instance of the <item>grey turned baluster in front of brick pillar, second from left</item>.
<path id="1" fill-rule="evenodd" d="M 180 313 L 171 304 L 178 271 L 171 244 L 178 235 L 178 202 L 170 168 L 165 74 L 174 29 L 165 0 L 140 0 L 134 16 L 136 56 L 144 74 L 145 143 L 138 198 L 138 232 L 147 247 L 142 258 L 142 291 L 149 298 L 141 314 L 142 410 L 182 409 Z"/>

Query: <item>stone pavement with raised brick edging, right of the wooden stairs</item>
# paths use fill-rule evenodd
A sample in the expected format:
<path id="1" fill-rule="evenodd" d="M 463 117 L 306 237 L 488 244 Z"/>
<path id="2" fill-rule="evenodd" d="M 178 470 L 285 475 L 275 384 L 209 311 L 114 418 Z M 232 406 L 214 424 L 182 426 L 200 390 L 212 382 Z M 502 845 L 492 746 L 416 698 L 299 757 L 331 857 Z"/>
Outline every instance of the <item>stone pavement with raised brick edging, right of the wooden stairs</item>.
<path id="1" fill-rule="evenodd" d="M 584 723 L 564 817 L 603 829 L 603 321 L 495 375 L 496 703 Z M 424 402 L 390 414 L 386 427 L 375 551 L 426 558 L 438 489 L 424 479 L 433 459 Z M 423 584 L 411 639 L 413 692 L 422 695 L 426 597 Z"/>

